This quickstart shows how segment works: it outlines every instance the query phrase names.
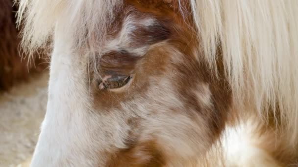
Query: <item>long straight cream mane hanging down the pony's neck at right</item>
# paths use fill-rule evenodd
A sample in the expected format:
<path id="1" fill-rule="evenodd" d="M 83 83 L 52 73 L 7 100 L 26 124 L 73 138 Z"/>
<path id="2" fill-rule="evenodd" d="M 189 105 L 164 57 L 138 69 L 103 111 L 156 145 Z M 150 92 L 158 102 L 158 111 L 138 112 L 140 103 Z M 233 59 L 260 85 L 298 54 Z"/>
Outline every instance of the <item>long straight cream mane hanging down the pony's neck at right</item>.
<path id="1" fill-rule="evenodd" d="M 235 103 L 276 110 L 298 138 L 298 1 L 191 0 L 208 62 L 219 44 Z M 272 108 L 270 108 L 272 107 Z"/>

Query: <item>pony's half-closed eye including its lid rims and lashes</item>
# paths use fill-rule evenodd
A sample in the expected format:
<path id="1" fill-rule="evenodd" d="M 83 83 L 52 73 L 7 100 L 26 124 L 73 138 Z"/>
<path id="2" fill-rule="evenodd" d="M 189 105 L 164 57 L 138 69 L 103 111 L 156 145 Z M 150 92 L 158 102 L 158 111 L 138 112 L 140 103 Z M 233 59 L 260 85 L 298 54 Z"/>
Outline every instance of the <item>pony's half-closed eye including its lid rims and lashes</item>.
<path id="1" fill-rule="evenodd" d="M 124 75 L 108 75 L 104 76 L 99 83 L 99 89 L 106 90 L 106 89 L 116 89 L 121 88 L 126 85 L 132 76 L 124 76 Z"/>

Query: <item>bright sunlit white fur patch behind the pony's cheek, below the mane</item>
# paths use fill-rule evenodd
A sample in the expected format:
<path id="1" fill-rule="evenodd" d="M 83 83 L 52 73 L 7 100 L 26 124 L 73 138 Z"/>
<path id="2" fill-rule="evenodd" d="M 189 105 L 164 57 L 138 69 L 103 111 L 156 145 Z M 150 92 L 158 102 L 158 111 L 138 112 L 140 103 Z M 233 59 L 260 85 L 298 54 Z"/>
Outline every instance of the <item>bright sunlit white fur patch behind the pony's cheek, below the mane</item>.
<path id="1" fill-rule="evenodd" d="M 222 136 L 223 157 L 227 167 L 280 167 L 260 144 L 271 140 L 258 136 L 261 124 L 248 120 L 235 127 L 227 126 Z M 259 145 L 259 146 L 258 146 Z"/>

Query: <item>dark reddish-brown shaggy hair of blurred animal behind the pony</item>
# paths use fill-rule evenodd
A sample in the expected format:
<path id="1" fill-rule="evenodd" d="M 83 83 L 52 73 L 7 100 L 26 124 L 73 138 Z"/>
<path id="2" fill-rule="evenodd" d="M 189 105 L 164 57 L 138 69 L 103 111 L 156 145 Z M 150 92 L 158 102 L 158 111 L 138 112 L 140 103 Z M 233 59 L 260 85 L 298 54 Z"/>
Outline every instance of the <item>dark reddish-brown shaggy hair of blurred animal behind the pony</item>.
<path id="1" fill-rule="evenodd" d="M 17 6 L 13 7 L 13 0 L 0 1 L 0 91 L 8 90 L 14 84 L 26 80 L 29 72 L 40 71 L 46 67 L 42 59 L 36 58 L 27 65 L 27 58 L 22 59 L 18 52 L 20 39 L 16 29 L 15 13 Z M 37 67 L 37 68 L 35 68 Z"/>

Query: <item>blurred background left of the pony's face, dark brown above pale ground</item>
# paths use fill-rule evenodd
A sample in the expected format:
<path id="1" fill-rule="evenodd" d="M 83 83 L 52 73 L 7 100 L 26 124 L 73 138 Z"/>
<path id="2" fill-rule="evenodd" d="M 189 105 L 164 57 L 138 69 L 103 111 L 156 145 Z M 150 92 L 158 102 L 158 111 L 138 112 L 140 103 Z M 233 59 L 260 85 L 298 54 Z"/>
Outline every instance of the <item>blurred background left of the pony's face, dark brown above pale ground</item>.
<path id="1" fill-rule="evenodd" d="M 30 161 L 47 104 L 47 55 L 23 54 L 17 10 L 13 0 L 0 0 L 0 167 Z"/>

